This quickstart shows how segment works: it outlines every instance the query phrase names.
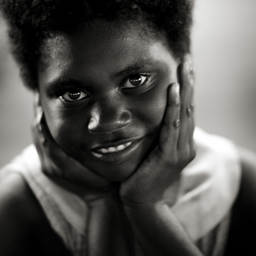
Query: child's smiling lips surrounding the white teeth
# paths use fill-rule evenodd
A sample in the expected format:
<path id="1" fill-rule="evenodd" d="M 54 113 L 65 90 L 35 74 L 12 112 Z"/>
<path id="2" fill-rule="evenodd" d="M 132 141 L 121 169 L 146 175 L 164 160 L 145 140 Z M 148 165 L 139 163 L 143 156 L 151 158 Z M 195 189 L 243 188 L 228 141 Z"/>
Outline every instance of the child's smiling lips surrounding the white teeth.
<path id="1" fill-rule="evenodd" d="M 123 161 L 126 158 L 128 158 L 130 155 L 132 155 L 137 150 L 137 148 L 140 146 L 143 139 L 144 138 L 132 139 L 132 140 L 126 139 L 126 140 L 118 141 L 116 143 L 104 144 L 104 145 L 101 145 L 101 146 L 91 149 L 91 153 L 97 160 L 100 160 L 105 163 L 120 162 L 120 161 Z M 128 142 L 132 142 L 132 144 L 130 146 L 128 146 L 127 148 L 125 148 L 121 151 L 118 151 L 118 152 L 109 152 L 109 153 L 103 154 L 103 153 L 100 153 L 97 151 L 102 148 L 117 147 L 119 145 L 122 145 L 122 144 L 125 144 Z"/>

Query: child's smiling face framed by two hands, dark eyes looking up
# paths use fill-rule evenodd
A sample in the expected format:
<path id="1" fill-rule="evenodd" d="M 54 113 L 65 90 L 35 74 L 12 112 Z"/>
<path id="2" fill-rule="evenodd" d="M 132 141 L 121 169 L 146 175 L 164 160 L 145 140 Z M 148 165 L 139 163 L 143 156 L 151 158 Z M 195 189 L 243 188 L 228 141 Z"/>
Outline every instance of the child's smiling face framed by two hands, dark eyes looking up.
<path id="1" fill-rule="evenodd" d="M 95 21 L 42 47 L 39 92 L 52 137 L 112 181 L 129 177 L 157 142 L 167 88 L 177 82 L 165 37 L 145 29 Z"/>

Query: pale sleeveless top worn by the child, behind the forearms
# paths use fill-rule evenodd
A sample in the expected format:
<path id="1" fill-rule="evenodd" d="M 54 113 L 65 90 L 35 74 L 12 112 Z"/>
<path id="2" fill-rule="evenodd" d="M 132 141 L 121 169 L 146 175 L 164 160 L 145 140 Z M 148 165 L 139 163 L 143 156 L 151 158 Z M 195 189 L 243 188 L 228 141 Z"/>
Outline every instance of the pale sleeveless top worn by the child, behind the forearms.
<path id="1" fill-rule="evenodd" d="M 189 237 L 207 255 L 221 255 L 228 216 L 240 182 L 240 162 L 229 140 L 195 129 L 197 155 L 181 172 L 178 199 L 171 207 Z M 57 235 L 74 256 L 85 256 L 86 202 L 42 173 L 34 145 L 0 171 L 0 178 L 20 173 Z M 168 203 L 168 190 L 165 193 Z M 137 255 L 143 255 L 138 250 Z"/>

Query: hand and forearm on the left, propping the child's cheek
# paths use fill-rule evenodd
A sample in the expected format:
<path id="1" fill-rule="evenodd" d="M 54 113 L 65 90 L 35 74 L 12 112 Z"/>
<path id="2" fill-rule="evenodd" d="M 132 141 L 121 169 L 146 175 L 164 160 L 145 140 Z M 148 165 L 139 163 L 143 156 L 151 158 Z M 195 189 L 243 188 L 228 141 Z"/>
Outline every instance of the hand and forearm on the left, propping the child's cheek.
<path id="1" fill-rule="evenodd" d="M 32 133 L 42 171 L 59 183 L 63 184 L 64 180 L 65 188 L 68 183 L 89 206 L 89 212 L 85 216 L 89 220 L 88 253 L 94 254 L 97 251 L 100 255 L 105 255 L 110 251 L 117 251 L 115 255 L 127 255 L 130 245 L 126 241 L 126 233 L 129 231 L 126 230 L 127 224 L 119 205 L 118 187 L 87 169 L 57 145 L 50 135 L 38 100 L 37 94 Z"/>

